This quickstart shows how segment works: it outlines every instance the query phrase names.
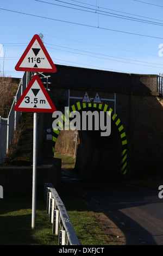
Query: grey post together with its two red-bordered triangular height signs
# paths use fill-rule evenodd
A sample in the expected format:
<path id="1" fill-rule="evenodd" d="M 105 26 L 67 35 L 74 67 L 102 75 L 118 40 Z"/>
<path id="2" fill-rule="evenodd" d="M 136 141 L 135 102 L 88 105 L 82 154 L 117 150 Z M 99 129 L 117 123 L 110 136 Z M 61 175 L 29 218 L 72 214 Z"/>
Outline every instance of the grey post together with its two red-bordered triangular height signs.
<path id="1" fill-rule="evenodd" d="M 37 113 L 56 111 L 45 87 L 36 72 L 56 72 L 51 57 L 49 56 L 39 35 L 34 35 L 22 57 L 15 66 L 17 71 L 35 72 L 34 77 L 17 101 L 14 110 L 34 112 L 33 115 L 33 181 L 32 181 L 32 229 L 35 228 L 36 217 L 36 178 L 37 178 Z M 48 77 L 48 76 L 47 76 Z M 48 81 L 47 81 L 48 85 Z M 47 88 L 48 89 L 48 88 Z"/>

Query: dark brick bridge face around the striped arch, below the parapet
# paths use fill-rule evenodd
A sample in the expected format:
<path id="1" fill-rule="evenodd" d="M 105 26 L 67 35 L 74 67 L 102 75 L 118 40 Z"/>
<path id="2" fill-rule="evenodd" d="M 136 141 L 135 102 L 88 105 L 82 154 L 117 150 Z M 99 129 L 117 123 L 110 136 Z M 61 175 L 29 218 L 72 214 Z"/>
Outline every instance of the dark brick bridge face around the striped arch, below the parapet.
<path id="1" fill-rule="evenodd" d="M 90 97 L 96 92 L 89 91 Z M 84 90 L 70 90 L 70 96 L 83 97 Z M 101 99 L 114 99 L 114 93 L 98 92 Z M 67 89 L 51 89 L 55 107 L 64 111 Z M 70 99 L 70 106 L 81 101 Z M 114 110 L 114 102 L 105 101 Z M 116 93 L 116 114 L 122 121 L 128 141 L 128 174 L 159 174 L 163 155 L 163 101 L 158 96 Z M 117 130 L 118 133 L 118 130 Z"/>

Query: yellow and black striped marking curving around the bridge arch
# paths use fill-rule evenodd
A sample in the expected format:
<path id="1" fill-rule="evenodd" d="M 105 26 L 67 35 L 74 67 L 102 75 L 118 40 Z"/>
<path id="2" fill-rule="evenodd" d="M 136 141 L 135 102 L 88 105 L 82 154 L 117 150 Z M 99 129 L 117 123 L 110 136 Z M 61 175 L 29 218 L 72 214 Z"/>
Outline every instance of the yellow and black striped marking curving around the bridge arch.
<path id="1" fill-rule="evenodd" d="M 110 108 L 105 103 L 102 103 L 102 104 L 82 103 L 80 101 L 70 107 L 69 116 L 70 116 L 71 112 L 80 111 L 81 109 L 88 108 L 88 107 L 98 108 L 104 112 L 108 112 L 108 114 L 111 114 L 111 119 L 112 119 L 112 121 L 114 121 L 115 125 L 117 126 L 118 132 L 120 133 L 120 137 L 121 137 L 121 143 L 122 143 L 121 173 L 126 174 L 126 172 L 127 172 L 127 138 L 126 138 L 126 133 L 124 131 L 124 127 L 122 125 L 120 118 L 118 118 L 117 114 L 114 113 L 112 108 Z M 62 119 L 63 119 L 62 123 L 58 122 L 58 125 L 60 128 L 62 128 L 62 126 L 64 126 L 64 124 L 67 120 L 64 114 L 62 114 Z M 57 127 L 53 129 L 53 153 L 54 153 L 55 142 L 57 141 L 59 132 L 60 132 L 60 130 L 58 130 Z"/>

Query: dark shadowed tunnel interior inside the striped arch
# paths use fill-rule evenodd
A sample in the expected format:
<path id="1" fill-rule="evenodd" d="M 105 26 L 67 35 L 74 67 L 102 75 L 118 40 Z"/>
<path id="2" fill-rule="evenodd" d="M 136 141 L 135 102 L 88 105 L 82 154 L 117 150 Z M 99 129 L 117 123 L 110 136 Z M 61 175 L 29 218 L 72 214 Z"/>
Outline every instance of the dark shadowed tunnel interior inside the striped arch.
<path id="1" fill-rule="evenodd" d="M 96 108 L 85 108 L 82 111 L 98 111 L 99 115 L 101 112 Z M 104 130 L 100 129 L 100 124 L 99 130 L 95 129 L 95 125 L 92 130 L 82 130 L 82 111 L 80 111 L 81 129 L 78 130 L 80 143 L 77 148 L 74 170 L 85 176 L 119 180 L 121 178 L 122 143 L 117 126 L 111 119 L 109 136 L 102 136 L 101 132 Z M 106 112 L 103 111 L 103 114 L 106 125 Z M 92 120 L 95 121 L 95 118 Z"/>

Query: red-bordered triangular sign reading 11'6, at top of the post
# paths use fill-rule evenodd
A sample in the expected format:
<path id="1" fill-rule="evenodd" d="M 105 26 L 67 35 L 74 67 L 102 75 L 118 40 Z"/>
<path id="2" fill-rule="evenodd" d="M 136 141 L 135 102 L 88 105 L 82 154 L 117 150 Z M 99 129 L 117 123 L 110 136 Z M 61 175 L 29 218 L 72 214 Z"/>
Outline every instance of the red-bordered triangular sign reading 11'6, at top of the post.
<path id="1" fill-rule="evenodd" d="M 15 70 L 52 73 L 57 71 L 39 35 L 36 34 L 33 36 L 22 57 L 16 64 Z"/>

